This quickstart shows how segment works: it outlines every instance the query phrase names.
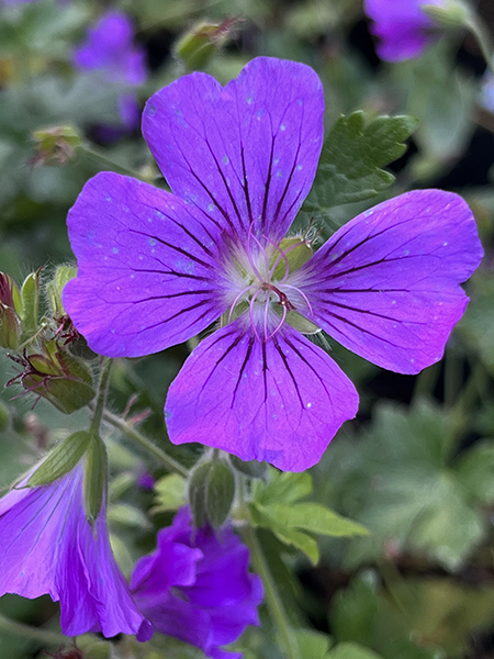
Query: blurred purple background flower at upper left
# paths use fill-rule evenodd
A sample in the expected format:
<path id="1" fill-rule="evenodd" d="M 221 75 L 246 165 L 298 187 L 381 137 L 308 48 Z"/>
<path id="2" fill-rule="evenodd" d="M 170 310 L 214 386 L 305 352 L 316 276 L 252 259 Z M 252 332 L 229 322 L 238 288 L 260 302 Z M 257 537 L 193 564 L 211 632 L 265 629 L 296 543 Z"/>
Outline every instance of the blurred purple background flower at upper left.
<path id="1" fill-rule="evenodd" d="M 100 71 L 103 82 L 127 88 L 119 96 L 119 114 L 130 131 L 138 125 L 141 112 L 135 94 L 128 89 L 143 85 L 147 78 L 145 51 L 133 40 L 131 20 L 123 12 L 112 10 L 89 30 L 85 43 L 72 56 L 79 70 Z"/>

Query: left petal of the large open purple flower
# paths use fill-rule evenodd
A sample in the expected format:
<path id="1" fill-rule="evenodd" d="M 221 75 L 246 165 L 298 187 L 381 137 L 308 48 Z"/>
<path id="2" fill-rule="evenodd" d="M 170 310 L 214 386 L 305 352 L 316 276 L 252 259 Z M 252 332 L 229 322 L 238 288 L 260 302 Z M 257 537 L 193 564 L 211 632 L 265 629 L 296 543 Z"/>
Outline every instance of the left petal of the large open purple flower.
<path id="1" fill-rule="evenodd" d="M 218 231 L 168 192 L 100 174 L 71 209 L 68 230 L 79 271 L 64 290 L 64 305 L 97 353 L 157 353 L 225 311 Z"/>

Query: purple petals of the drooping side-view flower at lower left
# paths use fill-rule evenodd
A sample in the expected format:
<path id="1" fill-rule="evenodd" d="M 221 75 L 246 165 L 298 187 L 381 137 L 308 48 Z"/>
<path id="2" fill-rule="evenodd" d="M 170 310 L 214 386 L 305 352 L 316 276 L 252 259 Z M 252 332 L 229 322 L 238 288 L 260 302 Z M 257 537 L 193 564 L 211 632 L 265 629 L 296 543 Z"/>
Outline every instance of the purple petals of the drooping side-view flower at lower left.
<path id="1" fill-rule="evenodd" d="M 139 633 L 146 640 L 150 626 L 113 557 L 104 504 L 94 528 L 86 520 L 82 480 L 83 461 L 49 485 L 14 489 L 0 500 L 0 595 L 47 593 L 60 602 L 67 636 Z"/>

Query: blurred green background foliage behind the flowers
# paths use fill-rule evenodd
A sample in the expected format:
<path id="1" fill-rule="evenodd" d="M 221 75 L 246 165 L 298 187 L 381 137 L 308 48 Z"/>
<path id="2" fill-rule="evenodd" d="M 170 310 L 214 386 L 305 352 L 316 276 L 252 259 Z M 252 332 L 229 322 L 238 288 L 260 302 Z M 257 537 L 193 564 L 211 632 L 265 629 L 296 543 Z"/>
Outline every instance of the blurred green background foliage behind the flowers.
<path id="1" fill-rule="evenodd" d="M 304 210 L 328 235 L 375 201 L 412 188 L 461 193 L 486 253 L 467 284 L 471 302 L 442 362 L 417 377 L 382 371 L 332 346 L 357 384 L 361 406 L 312 470 L 311 500 L 369 534 L 321 537 L 316 566 L 268 529 L 260 537 L 300 629 L 301 659 L 493 658 L 494 103 L 475 42 L 459 32 L 417 59 L 383 63 L 360 0 L 115 0 L 111 8 L 128 14 L 145 52 L 148 75 L 139 85 L 103 83 L 97 70 L 72 64 L 75 47 L 110 3 L 0 0 L 0 270 L 22 281 L 42 267 L 46 281 L 55 266 L 72 263 L 67 211 L 99 170 L 132 170 L 165 185 L 138 125 L 122 125 L 119 99 L 130 91 L 142 107 L 188 70 L 206 70 L 226 82 L 252 57 L 270 55 L 315 68 L 326 93 L 328 132 L 341 113 L 360 110 L 367 122 L 381 114 L 416 118 L 417 126 L 397 137 L 405 139 L 415 127 L 406 153 L 393 156 L 391 188 L 377 186 L 373 200 L 345 199 L 351 203 L 333 203 L 330 211 L 313 193 Z M 479 2 L 478 11 L 494 33 L 492 1 Z M 138 418 L 161 443 L 162 401 L 187 354 L 178 346 L 115 365 L 112 407 Z M 15 372 L 2 356 L 1 384 Z M 47 446 L 78 429 L 87 414 L 67 416 L 44 400 L 33 406 L 32 398 L 15 398 L 19 393 L 9 388 L 0 400 L 4 487 Z M 109 520 L 128 574 L 136 557 L 153 548 L 156 528 L 180 505 L 180 484 L 170 488 L 165 472 L 144 451 L 127 451 L 116 432 L 106 439 L 113 476 Z M 199 455 L 194 447 L 168 449 L 186 465 Z M 155 492 L 143 479 L 149 472 Z M 56 652 L 64 645 L 49 637 L 57 618 L 48 597 L 8 595 L 0 613 L 48 634 L 43 644 L 22 629 L 2 630 L 0 622 L 2 659 L 42 657 L 43 647 Z M 282 657 L 266 613 L 262 621 L 237 644 L 246 659 Z M 179 641 L 167 640 L 162 650 L 157 641 L 150 650 L 133 639 L 112 649 L 86 640 L 81 647 L 91 657 L 202 657 Z"/>

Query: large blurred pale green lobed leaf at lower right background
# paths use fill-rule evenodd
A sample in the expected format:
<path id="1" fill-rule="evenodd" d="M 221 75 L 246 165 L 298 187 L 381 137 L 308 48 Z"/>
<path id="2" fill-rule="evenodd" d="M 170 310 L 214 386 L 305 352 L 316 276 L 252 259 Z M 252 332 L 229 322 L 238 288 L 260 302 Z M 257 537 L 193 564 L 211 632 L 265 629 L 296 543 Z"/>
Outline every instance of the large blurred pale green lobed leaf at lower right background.
<path id="1" fill-rule="evenodd" d="M 448 415 L 429 403 L 409 412 L 381 403 L 358 450 L 348 442 L 338 445 L 332 462 L 339 482 L 329 487 L 329 500 L 370 530 L 351 543 L 347 565 L 391 550 L 456 569 L 485 537 L 479 499 L 492 502 L 492 472 L 476 467 L 482 454 L 492 460 L 492 444 L 454 459 L 451 440 Z"/>

